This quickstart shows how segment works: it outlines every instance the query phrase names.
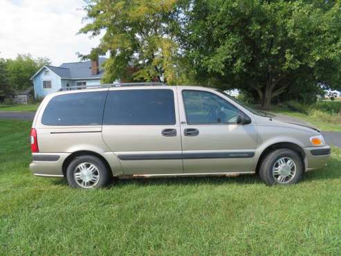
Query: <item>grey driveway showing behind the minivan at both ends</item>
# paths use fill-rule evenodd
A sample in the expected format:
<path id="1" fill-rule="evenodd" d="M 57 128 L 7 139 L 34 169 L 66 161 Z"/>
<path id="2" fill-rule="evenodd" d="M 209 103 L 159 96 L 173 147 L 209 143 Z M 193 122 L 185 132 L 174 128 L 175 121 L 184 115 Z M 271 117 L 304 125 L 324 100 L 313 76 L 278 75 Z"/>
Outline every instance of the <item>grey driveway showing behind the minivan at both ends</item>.
<path id="1" fill-rule="evenodd" d="M 33 120 L 35 112 L 30 111 L 0 111 L 0 119 L 17 119 L 17 120 Z M 297 120 L 296 118 L 291 118 Z M 326 143 L 341 147 L 341 132 L 340 131 L 322 131 Z"/>

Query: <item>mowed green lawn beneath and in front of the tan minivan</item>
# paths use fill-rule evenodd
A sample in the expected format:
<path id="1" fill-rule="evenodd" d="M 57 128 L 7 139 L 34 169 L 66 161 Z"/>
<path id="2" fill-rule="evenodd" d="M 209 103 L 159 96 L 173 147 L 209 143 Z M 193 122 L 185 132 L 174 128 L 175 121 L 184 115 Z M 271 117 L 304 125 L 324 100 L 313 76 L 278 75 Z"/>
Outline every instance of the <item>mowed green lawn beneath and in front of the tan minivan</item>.
<path id="1" fill-rule="evenodd" d="M 30 174 L 30 122 L 0 120 L 0 255 L 340 255 L 341 152 L 289 187 L 256 176 L 75 190 Z"/>

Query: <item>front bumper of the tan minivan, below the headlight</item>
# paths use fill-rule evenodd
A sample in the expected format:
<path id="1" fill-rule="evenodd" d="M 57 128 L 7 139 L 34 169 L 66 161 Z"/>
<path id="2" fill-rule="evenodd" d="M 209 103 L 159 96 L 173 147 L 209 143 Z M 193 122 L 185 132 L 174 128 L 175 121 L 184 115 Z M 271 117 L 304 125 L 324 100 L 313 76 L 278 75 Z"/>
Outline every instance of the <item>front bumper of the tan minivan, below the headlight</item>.
<path id="1" fill-rule="evenodd" d="M 323 147 L 306 147 L 304 148 L 304 163 L 306 171 L 320 169 L 326 166 L 326 162 L 331 156 L 331 147 L 328 145 Z"/>

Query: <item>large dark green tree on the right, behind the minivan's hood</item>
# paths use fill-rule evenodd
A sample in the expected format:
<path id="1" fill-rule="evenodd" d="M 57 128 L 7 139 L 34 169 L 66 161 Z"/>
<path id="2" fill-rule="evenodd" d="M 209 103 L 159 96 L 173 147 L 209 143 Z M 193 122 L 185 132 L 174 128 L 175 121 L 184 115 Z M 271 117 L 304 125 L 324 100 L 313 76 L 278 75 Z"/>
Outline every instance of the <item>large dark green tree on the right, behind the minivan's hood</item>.
<path id="1" fill-rule="evenodd" d="M 183 28 L 197 80 L 264 108 L 320 84 L 340 88 L 340 1 L 196 0 Z"/>

